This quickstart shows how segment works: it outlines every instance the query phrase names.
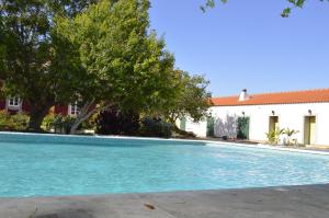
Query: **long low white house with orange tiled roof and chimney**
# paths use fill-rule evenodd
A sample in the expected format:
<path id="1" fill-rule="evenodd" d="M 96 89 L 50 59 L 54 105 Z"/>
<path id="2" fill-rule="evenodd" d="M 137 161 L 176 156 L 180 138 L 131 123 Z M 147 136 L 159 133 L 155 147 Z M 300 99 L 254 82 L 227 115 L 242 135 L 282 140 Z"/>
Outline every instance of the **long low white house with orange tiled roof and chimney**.
<path id="1" fill-rule="evenodd" d="M 212 99 L 213 118 L 193 123 L 181 121 L 181 128 L 198 137 L 237 138 L 238 119 L 247 121 L 250 140 L 265 141 L 266 133 L 277 128 L 298 130 L 294 139 L 304 145 L 329 145 L 329 89 L 248 94 Z M 282 137 L 282 142 L 284 138 Z"/>

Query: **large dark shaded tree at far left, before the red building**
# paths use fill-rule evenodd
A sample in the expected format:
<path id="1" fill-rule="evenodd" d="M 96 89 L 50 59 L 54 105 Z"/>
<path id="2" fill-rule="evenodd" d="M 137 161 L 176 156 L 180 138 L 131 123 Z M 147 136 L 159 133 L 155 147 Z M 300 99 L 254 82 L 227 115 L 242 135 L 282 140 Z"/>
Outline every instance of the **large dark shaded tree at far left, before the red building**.
<path id="1" fill-rule="evenodd" d="M 7 94 L 31 105 L 31 130 L 49 108 L 72 96 L 80 77 L 75 45 L 54 30 L 57 15 L 73 18 L 92 0 L 0 0 L 0 79 Z"/>

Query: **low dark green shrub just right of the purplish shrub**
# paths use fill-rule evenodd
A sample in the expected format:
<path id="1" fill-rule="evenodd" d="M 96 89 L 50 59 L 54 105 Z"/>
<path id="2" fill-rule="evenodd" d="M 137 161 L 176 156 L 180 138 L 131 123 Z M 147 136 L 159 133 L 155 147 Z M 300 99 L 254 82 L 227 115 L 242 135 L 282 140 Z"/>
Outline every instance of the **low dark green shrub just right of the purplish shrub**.
<path id="1" fill-rule="evenodd" d="M 172 125 L 160 118 L 144 117 L 141 119 L 140 134 L 143 136 L 170 138 Z"/>

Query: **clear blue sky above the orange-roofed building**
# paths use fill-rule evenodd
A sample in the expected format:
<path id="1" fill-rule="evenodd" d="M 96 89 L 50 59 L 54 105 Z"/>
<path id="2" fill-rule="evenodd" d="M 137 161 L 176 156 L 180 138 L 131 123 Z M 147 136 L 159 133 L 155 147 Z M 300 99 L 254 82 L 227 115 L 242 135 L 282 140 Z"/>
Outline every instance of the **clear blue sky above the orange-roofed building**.
<path id="1" fill-rule="evenodd" d="M 288 19 L 286 0 L 151 0 L 151 28 L 177 67 L 205 74 L 216 95 L 329 88 L 329 3 L 309 0 Z"/>

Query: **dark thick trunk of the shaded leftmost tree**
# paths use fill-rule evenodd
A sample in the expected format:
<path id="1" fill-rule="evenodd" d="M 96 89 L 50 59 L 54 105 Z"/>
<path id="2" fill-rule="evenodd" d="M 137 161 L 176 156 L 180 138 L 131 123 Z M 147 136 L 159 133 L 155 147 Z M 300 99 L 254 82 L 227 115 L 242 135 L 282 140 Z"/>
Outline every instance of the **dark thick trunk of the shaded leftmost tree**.
<path id="1" fill-rule="evenodd" d="M 30 122 L 27 126 L 29 131 L 39 133 L 42 131 L 41 125 L 48 114 L 53 104 L 41 104 L 41 103 L 31 103 L 30 110 Z"/>

